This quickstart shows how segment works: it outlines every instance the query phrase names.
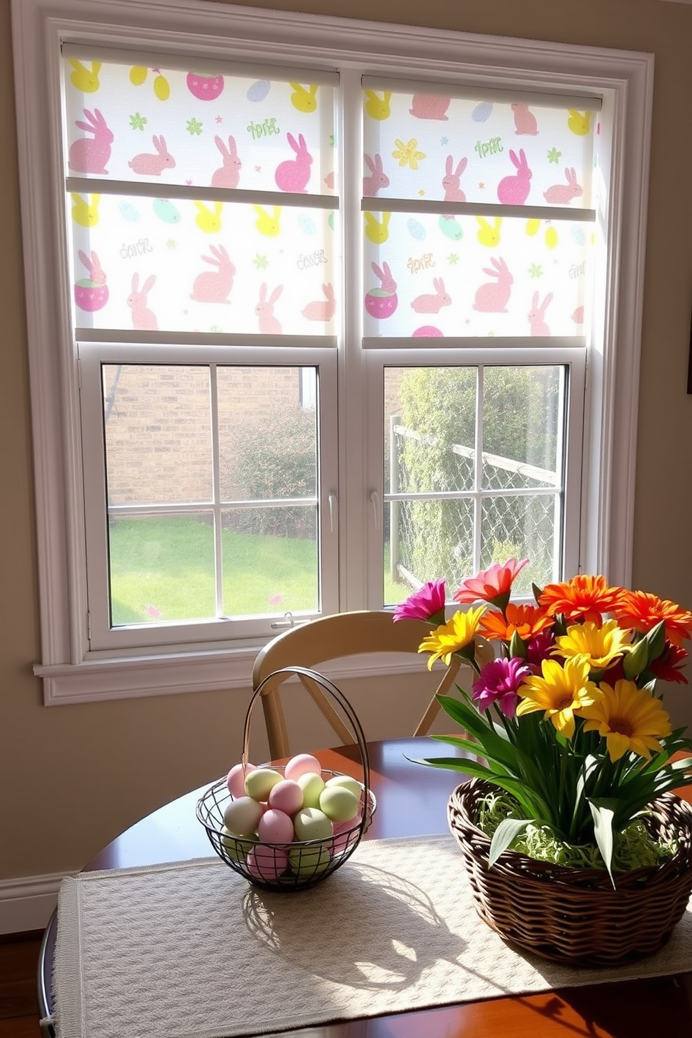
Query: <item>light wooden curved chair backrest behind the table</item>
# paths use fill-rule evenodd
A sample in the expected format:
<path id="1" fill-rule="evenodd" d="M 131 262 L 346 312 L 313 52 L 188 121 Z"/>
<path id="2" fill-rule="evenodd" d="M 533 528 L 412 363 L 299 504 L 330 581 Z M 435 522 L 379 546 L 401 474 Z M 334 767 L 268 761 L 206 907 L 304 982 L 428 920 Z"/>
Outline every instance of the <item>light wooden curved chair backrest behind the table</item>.
<path id="1" fill-rule="evenodd" d="M 392 613 L 386 610 L 364 609 L 320 617 L 307 624 L 282 631 L 265 646 L 254 663 L 252 687 L 256 689 L 265 678 L 281 667 L 305 666 L 319 670 L 319 664 L 343 656 L 383 652 L 417 653 L 420 643 L 431 630 L 431 625 L 422 620 L 399 620 L 394 623 Z M 423 659 L 426 663 L 427 656 L 421 656 L 421 665 Z M 435 696 L 449 691 L 461 664 L 462 660 L 453 656 L 449 665 L 444 668 L 414 735 L 425 735 L 430 730 L 440 709 Z M 443 664 L 440 664 L 440 667 L 442 666 Z M 267 683 L 261 694 L 272 760 L 290 755 L 279 692 L 279 686 L 286 677 L 277 675 Z M 322 688 L 303 675 L 299 675 L 299 678 L 341 742 L 354 742 L 352 733 L 327 700 Z"/>

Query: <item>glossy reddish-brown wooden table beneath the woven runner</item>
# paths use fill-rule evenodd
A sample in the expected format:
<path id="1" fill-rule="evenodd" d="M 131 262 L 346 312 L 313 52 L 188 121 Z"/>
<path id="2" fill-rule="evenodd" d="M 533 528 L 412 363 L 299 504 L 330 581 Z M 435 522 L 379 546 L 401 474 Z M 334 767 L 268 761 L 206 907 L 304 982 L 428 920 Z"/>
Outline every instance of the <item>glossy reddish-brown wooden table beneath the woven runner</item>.
<path id="1" fill-rule="evenodd" d="M 356 746 L 325 749 L 315 756 L 325 768 L 362 777 Z M 368 743 L 368 756 L 378 808 L 365 839 L 448 831 L 447 797 L 465 775 L 407 760 L 407 757 L 449 756 L 448 746 L 424 738 L 393 739 Z M 105 847 L 86 869 L 121 869 L 210 856 L 211 844 L 195 817 L 195 804 L 204 788 L 137 822 Z M 43 988 L 45 1004 L 50 1008 L 47 992 L 50 992 L 55 947 L 55 919 L 46 931 L 44 946 L 39 993 Z M 648 1038 L 662 1031 L 692 1035 L 692 974 L 586 985 L 546 994 L 491 999 L 424 1012 L 329 1023 L 310 1028 L 309 1035 L 310 1038 Z M 308 1031 L 290 1034 L 301 1038 Z"/>

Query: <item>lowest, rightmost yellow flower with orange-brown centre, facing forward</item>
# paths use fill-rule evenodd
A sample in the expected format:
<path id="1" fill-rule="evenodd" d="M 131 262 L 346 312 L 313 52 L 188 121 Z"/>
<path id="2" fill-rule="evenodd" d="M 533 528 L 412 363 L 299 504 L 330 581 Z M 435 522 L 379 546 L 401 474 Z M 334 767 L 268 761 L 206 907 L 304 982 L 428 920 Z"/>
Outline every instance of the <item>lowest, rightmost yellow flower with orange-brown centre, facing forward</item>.
<path id="1" fill-rule="evenodd" d="M 602 682 L 600 689 L 601 695 L 584 707 L 581 715 L 588 718 L 585 732 L 604 736 L 611 761 L 628 750 L 648 760 L 649 750 L 661 749 L 659 739 L 670 735 L 672 729 L 660 700 L 625 679 L 616 681 L 614 688 Z"/>

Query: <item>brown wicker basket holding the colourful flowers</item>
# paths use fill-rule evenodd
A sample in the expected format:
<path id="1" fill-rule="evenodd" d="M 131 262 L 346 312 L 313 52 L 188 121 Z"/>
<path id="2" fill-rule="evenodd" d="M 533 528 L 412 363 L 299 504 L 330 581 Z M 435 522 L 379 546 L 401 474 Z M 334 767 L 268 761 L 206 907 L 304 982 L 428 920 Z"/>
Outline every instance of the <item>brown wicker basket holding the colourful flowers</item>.
<path id="1" fill-rule="evenodd" d="M 506 940 L 575 965 L 612 965 L 658 951 L 682 919 L 692 891 L 692 808 L 672 793 L 652 805 L 652 835 L 675 837 L 679 849 L 660 866 L 615 874 L 572 869 L 504 851 L 488 868 L 490 839 L 475 824 L 491 784 L 472 778 L 449 798 L 449 828 L 459 843 L 480 918 Z"/>

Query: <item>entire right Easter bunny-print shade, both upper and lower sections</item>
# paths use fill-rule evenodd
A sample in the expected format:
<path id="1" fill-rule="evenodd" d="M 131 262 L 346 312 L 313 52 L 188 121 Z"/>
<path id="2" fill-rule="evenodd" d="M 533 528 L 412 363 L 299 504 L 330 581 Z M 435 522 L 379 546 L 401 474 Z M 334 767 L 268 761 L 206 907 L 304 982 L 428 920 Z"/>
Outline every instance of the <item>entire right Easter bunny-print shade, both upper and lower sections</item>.
<path id="1" fill-rule="evenodd" d="M 599 100 L 425 89 L 363 88 L 365 345 L 582 336 Z"/>

